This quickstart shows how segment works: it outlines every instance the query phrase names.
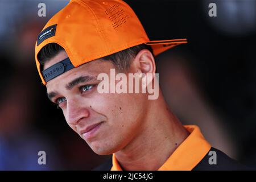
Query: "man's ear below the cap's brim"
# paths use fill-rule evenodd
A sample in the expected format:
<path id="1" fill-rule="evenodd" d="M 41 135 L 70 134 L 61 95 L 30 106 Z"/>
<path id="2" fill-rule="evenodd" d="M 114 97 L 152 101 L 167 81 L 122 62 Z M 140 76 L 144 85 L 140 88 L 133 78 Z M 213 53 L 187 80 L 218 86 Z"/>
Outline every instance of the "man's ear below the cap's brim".
<path id="1" fill-rule="evenodd" d="M 148 49 L 142 49 L 135 56 L 132 67 L 137 73 L 155 73 L 154 56 Z"/>

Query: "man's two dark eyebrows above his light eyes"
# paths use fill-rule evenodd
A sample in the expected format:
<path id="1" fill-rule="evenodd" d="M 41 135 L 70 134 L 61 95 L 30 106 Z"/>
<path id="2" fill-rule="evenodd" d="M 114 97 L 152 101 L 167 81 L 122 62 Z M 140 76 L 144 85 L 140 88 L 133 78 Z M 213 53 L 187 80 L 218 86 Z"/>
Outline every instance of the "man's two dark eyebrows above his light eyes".
<path id="1" fill-rule="evenodd" d="M 89 81 L 95 81 L 97 80 L 96 77 L 93 76 L 80 76 L 69 82 L 67 85 L 65 85 L 65 88 L 67 90 L 71 90 L 74 86 L 80 84 L 80 83 L 85 83 Z M 57 92 L 50 92 L 47 94 L 48 98 L 50 101 L 52 101 L 53 97 L 56 97 L 59 93 Z"/>

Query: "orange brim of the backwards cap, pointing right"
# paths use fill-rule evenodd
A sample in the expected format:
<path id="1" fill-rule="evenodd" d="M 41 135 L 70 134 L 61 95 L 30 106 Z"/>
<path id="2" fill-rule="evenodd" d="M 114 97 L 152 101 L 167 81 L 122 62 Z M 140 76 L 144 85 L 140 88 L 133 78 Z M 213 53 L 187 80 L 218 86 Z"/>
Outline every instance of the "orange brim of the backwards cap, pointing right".
<path id="1" fill-rule="evenodd" d="M 153 49 L 154 55 L 156 56 L 156 55 L 159 55 L 159 53 L 166 51 L 167 49 L 173 48 L 180 44 L 186 44 L 186 43 L 188 43 L 187 39 L 172 39 L 172 40 L 152 40 L 144 44 L 151 46 Z"/>

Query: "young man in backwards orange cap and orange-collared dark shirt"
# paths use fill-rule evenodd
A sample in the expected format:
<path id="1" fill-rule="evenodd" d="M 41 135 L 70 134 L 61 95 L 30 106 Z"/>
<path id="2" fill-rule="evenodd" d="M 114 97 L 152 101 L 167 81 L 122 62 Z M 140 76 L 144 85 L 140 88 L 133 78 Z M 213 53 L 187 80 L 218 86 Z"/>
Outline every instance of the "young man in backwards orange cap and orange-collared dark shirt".
<path id="1" fill-rule="evenodd" d="M 149 99 L 150 84 L 158 88 L 154 56 L 183 43 L 186 39 L 150 41 L 133 10 L 117 0 L 71 1 L 43 28 L 35 46 L 39 75 L 68 125 L 96 154 L 113 154 L 112 162 L 98 169 L 243 168 L 212 148 L 197 126 L 183 126 L 160 89 Z M 141 82 L 147 78 L 147 92 L 117 92 L 111 77 L 119 73 L 122 79 L 114 86 L 133 74 Z M 99 92 L 101 74 L 110 77 L 104 89 L 114 92 Z M 135 83 L 127 80 L 122 89 L 125 85 Z"/>

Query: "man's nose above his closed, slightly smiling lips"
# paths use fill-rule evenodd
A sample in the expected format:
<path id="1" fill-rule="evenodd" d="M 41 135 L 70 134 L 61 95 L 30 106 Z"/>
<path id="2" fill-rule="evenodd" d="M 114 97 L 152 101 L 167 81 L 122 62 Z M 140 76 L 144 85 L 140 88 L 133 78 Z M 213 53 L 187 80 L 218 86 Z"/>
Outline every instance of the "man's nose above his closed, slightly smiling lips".
<path id="1" fill-rule="evenodd" d="M 77 125 L 82 118 L 89 117 L 89 110 L 78 100 L 67 100 L 66 120 L 70 125 Z"/>

